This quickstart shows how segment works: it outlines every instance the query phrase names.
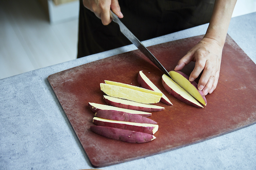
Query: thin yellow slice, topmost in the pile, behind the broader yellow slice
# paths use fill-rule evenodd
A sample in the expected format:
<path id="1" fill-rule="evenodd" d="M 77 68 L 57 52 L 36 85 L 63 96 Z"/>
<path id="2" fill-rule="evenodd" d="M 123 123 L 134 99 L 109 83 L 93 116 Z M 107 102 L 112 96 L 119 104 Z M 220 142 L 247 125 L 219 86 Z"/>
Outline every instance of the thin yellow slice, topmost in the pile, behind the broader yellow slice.
<path id="1" fill-rule="evenodd" d="M 120 83 L 120 82 L 116 82 L 116 81 L 109 81 L 109 80 L 105 80 L 105 83 L 106 84 L 112 84 L 112 85 L 115 85 L 115 86 L 126 87 L 126 88 L 137 90 L 137 91 L 142 91 L 142 92 L 145 92 L 145 93 L 151 93 L 151 94 L 155 94 L 155 95 L 158 95 L 158 96 L 162 97 L 162 92 L 149 90 L 149 89 L 145 89 L 145 88 L 142 88 L 142 87 L 133 86 L 133 85 L 130 85 L 130 84 Z"/>

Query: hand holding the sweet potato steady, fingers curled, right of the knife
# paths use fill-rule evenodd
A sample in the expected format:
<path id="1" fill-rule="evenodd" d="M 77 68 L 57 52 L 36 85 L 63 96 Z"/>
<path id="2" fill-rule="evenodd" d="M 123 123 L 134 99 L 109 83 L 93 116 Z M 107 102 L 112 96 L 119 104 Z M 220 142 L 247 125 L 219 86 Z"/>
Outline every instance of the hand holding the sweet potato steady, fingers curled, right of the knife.
<path id="1" fill-rule="evenodd" d="M 175 71 L 183 69 L 191 61 L 195 61 L 195 68 L 189 76 L 189 81 L 194 81 L 203 71 L 199 79 L 198 89 L 204 95 L 211 94 L 218 84 L 220 63 L 223 46 L 212 38 L 204 37 L 196 46 L 178 61 Z"/>

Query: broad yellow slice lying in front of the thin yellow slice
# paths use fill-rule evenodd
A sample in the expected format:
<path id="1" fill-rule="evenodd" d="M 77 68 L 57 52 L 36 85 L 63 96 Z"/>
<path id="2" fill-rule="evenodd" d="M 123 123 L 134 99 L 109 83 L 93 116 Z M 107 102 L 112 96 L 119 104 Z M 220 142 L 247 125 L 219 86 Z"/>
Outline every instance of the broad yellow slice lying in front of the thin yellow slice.
<path id="1" fill-rule="evenodd" d="M 118 97 L 120 99 L 127 99 L 144 104 L 158 103 L 161 99 L 161 96 L 159 95 L 137 91 L 122 86 L 115 86 L 112 84 L 101 83 L 100 89 L 108 96 Z"/>

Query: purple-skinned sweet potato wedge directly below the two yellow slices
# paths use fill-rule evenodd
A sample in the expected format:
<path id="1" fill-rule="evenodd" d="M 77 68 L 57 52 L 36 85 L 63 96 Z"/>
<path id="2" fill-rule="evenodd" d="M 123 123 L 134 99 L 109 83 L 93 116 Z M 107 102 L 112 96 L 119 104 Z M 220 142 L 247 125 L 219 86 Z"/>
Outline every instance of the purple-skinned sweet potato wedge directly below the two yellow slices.
<path id="1" fill-rule="evenodd" d="M 139 110 L 144 112 L 156 112 L 156 111 L 162 111 L 165 109 L 164 107 L 153 105 L 153 104 L 143 104 L 135 101 L 119 99 L 116 97 L 106 96 L 106 95 L 103 95 L 103 99 L 108 105 L 121 107 L 124 109 Z"/>

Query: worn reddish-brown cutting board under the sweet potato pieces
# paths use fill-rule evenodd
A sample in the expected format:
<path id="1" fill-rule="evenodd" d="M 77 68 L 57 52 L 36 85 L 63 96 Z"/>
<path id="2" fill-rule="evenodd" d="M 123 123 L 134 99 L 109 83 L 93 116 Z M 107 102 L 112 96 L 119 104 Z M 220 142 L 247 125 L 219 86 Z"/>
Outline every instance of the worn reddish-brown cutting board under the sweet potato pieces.
<path id="1" fill-rule="evenodd" d="M 174 69 L 203 36 L 185 38 L 149 47 L 165 66 Z M 182 71 L 189 75 L 194 63 Z M 127 143 L 102 137 L 91 132 L 93 112 L 88 102 L 105 104 L 99 84 L 104 80 L 138 86 L 140 70 L 172 101 L 163 103 L 164 111 L 152 112 L 149 117 L 158 122 L 156 139 L 143 143 Z M 140 51 L 135 50 L 74 67 L 48 77 L 65 114 L 93 167 L 103 167 L 167 152 L 192 145 L 256 122 L 256 65 L 235 41 L 227 36 L 217 89 L 206 96 L 207 106 L 192 107 L 163 88 L 162 72 Z"/>

